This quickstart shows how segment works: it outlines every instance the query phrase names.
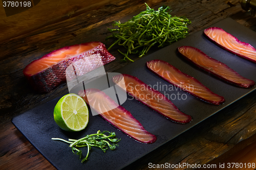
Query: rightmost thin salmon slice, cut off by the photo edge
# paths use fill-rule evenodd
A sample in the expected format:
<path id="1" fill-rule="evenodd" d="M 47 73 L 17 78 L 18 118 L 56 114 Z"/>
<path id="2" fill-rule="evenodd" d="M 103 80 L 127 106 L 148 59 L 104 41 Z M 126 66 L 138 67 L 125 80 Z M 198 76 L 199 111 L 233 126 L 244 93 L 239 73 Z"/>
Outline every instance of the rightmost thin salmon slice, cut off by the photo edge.
<path id="1" fill-rule="evenodd" d="M 204 34 L 225 50 L 256 63 L 256 50 L 249 43 L 240 41 L 218 27 L 205 29 Z"/>

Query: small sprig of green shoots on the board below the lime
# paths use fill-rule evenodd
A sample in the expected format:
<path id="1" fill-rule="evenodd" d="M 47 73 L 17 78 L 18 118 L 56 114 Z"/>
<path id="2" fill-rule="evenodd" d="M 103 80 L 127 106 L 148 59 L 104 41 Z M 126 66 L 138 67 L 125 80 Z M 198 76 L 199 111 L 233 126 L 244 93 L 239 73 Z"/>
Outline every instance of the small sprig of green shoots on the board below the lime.
<path id="1" fill-rule="evenodd" d="M 108 135 L 105 135 L 104 133 L 109 133 Z M 108 147 L 111 150 L 116 149 L 116 146 L 118 147 L 117 142 L 119 142 L 121 139 L 117 139 L 115 132 L 109 132 L 109 131 L 98 131 L 96 134 L 87 135 L 86 137 L 80 138 L 78 140 L 75 139 L 69 139 L 69 141 L 61 139 L 61 138 L 52 138 L 52 140 L 61 140 L 66 143 L 70 143 L 69 147 L 72 148 L 72 152 L 74 154 L 79 155 L 79 159 L 82 158 L 82 151 L 78 150 L 77 148 L 81 147 L 87 147 L 87 156 L 82 159 L 82 163 L 88 159 L 89 151 L 91 147 L 98 147 L 103 152 L 106 152 L 108 150 Z M 111 144 L 112 142 L 112 144 Z M 75 153 L 76 152 L 76 153 Z"/>

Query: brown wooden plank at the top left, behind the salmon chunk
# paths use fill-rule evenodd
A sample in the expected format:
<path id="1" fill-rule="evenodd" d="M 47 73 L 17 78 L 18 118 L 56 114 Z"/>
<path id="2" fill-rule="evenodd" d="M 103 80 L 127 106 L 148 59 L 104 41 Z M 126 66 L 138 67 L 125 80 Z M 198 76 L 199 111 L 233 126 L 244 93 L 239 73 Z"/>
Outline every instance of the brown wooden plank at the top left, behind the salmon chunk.
<path id="1" fill-rule="evenodd" d="M 27 11 L 8 17 L 2 6 L 3 9 L 0 10 L 0 18 L 2 18 L 0 20 L 0 42 L 80 15 L 86 11 L 102 8 L 104 5 L 115 1 L 78 0 L 75 3 L 72 0 L 40 1 Z"/>

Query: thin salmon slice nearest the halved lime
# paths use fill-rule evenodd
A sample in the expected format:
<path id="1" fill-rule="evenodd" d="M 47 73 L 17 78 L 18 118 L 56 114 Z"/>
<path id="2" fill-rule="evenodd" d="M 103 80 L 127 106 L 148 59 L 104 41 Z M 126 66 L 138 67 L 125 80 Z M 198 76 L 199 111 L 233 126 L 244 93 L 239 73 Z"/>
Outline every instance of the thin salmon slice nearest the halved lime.
<path id="1" fill-rule="evenodd" d="M 79 91 L 78 93 L 87 104 L 99 115 L 118 130 L 141 143 L 153 143 L 157 137 L 146 131 L 131 112 L 119 106 L 103 91 L 95 88 Z"/>

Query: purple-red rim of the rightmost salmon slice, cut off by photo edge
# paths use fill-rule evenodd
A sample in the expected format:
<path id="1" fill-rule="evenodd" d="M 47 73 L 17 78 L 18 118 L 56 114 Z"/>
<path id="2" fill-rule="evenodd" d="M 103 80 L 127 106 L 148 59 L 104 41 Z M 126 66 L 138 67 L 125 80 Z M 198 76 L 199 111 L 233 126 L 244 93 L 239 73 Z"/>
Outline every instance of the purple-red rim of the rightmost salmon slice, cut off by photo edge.
<path id="1" fill-rule="evenodd" d="M 218 42 L 216 42 L 215 40 L 213 40 L 213 39 L 211 39 L 208 35 L 206 35 L 206 31 L 208 30 L 208 29 L 212 29 L 212 28 L 214 28 L 214 29 L 219 29 L 219 30 L 223 30 L 223 29 L 221 29 L 221 28 L 219 28 L 219 27 L 210 27 L 210 28 L 207 28 L 207 29 L 205 29 L 204 30 L 204 35 L 209 39 L 209 40 L 211 40 L 212 42 L 214 42 L 215 44 L 217 44 L 218 46 L 220 46 L 220 47 L 222 47 L 224 50 L 226 50 L 226 51 L 228 51 L 228 52 L 230 52 L 230 53 L 232 53 L 232 54 L 234 54 L 234 55 L 237 55 L 237 56 L 239 56 L 239 57 L 242 57 L 242 58 L 244 58 L 244 59 L 246 59 L 246 60 L 249 60 L 249 61 L 251 61 L 251 62 L 254 62 L 254 63 L 256 63 L 256 60 L 253 60 L 253 59 L 251 59 L 251 58 L 249 58 L 249 57 L 246 57 L 246 56 L 244 56 L 244 55 L 241 55 L 241 54 L 238 54 L 238 53 L 236 53 L 236 52 L 233 52 L 232 50 L 229 50 L 228 48 L 226 48 L 225 46 L 223 46 L 223 45 L 221 45 L 221 44 L 219 44 Z M 223 30 L 224 31 L 224 30 Z M 226 32 L 226 31 L 225 31 Z M 227 32 L 226 32 L 227 33 Z M 227 33 L 227 34 L 229 34 L 229 33 Z M 240 41 L 237 37 L 235 37 L 235 36 L 233 36 L 232 34 L 229 34 L 229 35 L 231 35 L 232 37 L 234 37 L 234 39 L 236 39 L 236 41 L 237 42 L 239 42 L 239 43 L 242 43 L 242 44 L 244 44 L 244 45 L 249 45 L 249 46 L 251 46 L 251 44 L 249 44 L 249 43 L 247 43 L 247 42 L 242 42 L 242 41 Z M 252 46 L 251 46 L 252 47 Z M 254 47 L 253 47 L 254 48 Z M 255 49 L 255 48 L 254 48 Z M 256 51 L 256 50 L 255 50 Z"/>

